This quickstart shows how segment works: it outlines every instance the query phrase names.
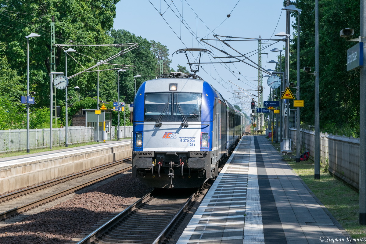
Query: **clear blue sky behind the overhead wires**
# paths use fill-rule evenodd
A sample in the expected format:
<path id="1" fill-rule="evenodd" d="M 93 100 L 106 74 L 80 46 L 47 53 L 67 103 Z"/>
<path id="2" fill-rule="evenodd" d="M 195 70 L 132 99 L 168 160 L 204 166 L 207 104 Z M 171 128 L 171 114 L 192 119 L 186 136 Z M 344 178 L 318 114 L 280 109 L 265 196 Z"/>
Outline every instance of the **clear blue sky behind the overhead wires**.
<path id="1" fill-rule="evenodd" d="M 224 53 L 199 41 L 200 38 L 215 39 L 213 34 L 217 34 L 246 38 L 259 38 L 261 36 L 262 38 L 269 39 L 279 38 L 274 35 L 285 31 L 286 14 L 284 10 L 281 10 L 283 7 L 282 0 L 240 0 L 239 2 L 238 0 L 150 1 L 120 1 L 117 4 L 117 14 L 113 27 L 114 29 L 128 30 L 149 41 L 154 40 L 167 46 L 170 59 L 172 60 L 171 66 L 175 70 L 178 64 L 186 66 L 189 70 L 184 53 L 178 53 L 172 56 L 178 49 L 206 48 L 212 51 L 212 55 L 203 54 L 201 62 L 215 62 L 213 57 L 226 56 Z M 227 18 L 227 14 L 230 13 L 231 16 Z M 290 21 L 293 22 L 294 17 L 291 17 Z M 188 31 L 187 28 L 190 30 Z M 292 31 L 290 34 L 292 34 Z M 198 40 L 196 36 L 198 36 Z M 225 50 L 233 56 L 238 56 L 238 53 L 220 41 L 207 42 L 219 49 Z M 273 42 L 263 42 L 262 46 L 270 43 Z M 247 57 L 250 56 L 251 60 L 255 61 L 255 63 L 258 62 L 258 41 L 232 41 L 228 42 L 228 44 L 242 54 L 249 53 Z M 262 51 L 262 53 L 268 53 L 268 55 L 262 54 L 262 67 L 266 69 L 272 68 L 274 70 L 275 65 L 267 62 L 272 59 L 276 60 L 279 53 L 269 52 L 269 50 L 273 48 L 283 50 L 283 46 L 284 42 L 278 42 Z M 221 60 L 236 61 L 235 59 Z M 238 98 L 233 98 L 234 96 L 229 91 L 238 91 L 238 87 L 228 82 L 229 80 L 250 93 L 257 95 L 258 82 L 252 80 L 258 80 L 258 70 L 242 62 L 231 64 L 202 64 L 198 75 L 216 87 L 232 105 L 238 104 L 239 100 Z M 264 100 L 267 100 L 269 95 L 267 78 L 264 78 L 263 81 Z M 250 97 L 254 96 L 250 95 Z M 256 97 L 255 100 L 257 100 Z M 247 101 L 246 104 L 238 105 L 244 108 L 249 115 L 249 97 Z"/>

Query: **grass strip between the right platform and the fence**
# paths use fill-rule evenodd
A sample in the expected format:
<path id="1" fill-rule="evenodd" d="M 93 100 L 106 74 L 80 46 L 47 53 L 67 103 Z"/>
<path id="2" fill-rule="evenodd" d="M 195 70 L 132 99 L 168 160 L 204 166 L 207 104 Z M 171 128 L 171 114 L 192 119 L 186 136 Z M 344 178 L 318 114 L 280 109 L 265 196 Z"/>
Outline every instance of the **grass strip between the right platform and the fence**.
<path id="1" fill-rule="evenodd" d="M 280 143 L 271 144 L 279 151 Z M 310 159 L 297 163 L 290 156 L 283 155 L 283 158 L 352 238 L 366 237 L 366 226 L 359 225 L 358 192 L 323 168 L 320 180 L 315 180 L 314 162 Z"/>

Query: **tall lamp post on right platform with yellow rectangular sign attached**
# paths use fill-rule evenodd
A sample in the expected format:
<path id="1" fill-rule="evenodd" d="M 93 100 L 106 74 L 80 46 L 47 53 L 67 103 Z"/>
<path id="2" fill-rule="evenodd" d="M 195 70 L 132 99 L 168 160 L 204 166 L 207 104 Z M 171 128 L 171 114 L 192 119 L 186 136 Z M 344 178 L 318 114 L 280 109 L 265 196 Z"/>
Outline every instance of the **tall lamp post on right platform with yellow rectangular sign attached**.
<path id="1" fill-rule="evenodd" d="M 300 100 L 300 13 L 302 10 L 296 8 L 294 5 L 288 5 L 283 10 L 286 11 L 298 11 L 298 46 L 297 46 L 297 86 L 296 86 L 296 99 Z M 296 108 L 296 162 L 300 162 L 300 107 Z"/>

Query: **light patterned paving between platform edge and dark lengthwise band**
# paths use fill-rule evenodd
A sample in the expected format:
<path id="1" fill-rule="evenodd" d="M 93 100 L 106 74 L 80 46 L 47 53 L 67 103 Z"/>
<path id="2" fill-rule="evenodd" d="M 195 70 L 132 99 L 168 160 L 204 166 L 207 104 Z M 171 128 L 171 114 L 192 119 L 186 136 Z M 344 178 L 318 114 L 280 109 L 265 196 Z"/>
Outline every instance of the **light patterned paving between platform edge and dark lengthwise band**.
<path id="1" fill-rule="evenodd" d="M 258 180 L 248 180 L 251 171 L 255 171 L 251 172 L 253 174 L 257 172 L 254 148 L 250 148 L 253 144 L 251 140 L 251 136 L 242 138 L 177 244 L 242 244 L 246 238 L 253 240 L 247 243 L 264 243 L 263 228 L 260 227 L 262 219 Z M 254 169 L 249 168 L 250 164 L 253 164 Z M 258 205 L 251 207 L 254 212 L 248 215 L 249 189 L 254 202 L 248 200 Z M 246 225 L 248 228 L 244 227 Z"/>

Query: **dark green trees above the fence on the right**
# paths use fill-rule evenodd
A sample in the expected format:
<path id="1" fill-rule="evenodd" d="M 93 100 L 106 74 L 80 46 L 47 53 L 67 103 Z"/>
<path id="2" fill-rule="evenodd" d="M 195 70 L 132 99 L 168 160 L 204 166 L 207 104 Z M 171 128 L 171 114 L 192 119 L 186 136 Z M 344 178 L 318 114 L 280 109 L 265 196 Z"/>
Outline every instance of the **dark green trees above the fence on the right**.
<path id="1" fill-rule="evenodd" d="M 295 4 L 295 3 L 294 3 Z M 300 15 L 300 67 L 315 66 L 315 4 L 311 0 L 298 0 L 296 7 L 302 9 Z M 340 11 L 342 10 L 342 11 Z M 297 12 L 292 13 L 296 17 Z M 319 90 L 320 127 L 329 124 L 334 128 L 348 125 L 359 127 L 359 71 L 346 71 L 346 51 L 354 42 L 339 37 L 341 29 L 355 29 L 359 36 L 360 5 L 357 1 L 329 0 L 319 3 Z M 297 30 L 297 22 L 294 28 Z M 290 81 L 296 84 L 297 37 L 291 45 Z M 300 94 L 305 100 L 300 119 L 304 124 L 314 124 L 314 76 L 300 72 Z M 329 129 L 329 128 L 326 128 Z M 353 129 L 355 135 L 358 134 Z"/>

